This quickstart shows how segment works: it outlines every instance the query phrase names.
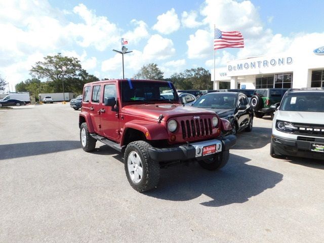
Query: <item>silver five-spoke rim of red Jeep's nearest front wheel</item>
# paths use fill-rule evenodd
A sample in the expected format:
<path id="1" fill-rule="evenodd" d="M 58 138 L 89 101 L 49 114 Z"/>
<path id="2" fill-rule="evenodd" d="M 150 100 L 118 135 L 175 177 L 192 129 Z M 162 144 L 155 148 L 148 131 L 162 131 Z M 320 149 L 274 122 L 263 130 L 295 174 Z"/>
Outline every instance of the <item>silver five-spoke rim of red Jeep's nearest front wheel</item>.
<path id="1" fill-rule="evenodd" d="M 128 174 L 134 183 L 139 183 L 143 176 L 143 166 L 140 155 L 132 151 L 127 158 Z"/>

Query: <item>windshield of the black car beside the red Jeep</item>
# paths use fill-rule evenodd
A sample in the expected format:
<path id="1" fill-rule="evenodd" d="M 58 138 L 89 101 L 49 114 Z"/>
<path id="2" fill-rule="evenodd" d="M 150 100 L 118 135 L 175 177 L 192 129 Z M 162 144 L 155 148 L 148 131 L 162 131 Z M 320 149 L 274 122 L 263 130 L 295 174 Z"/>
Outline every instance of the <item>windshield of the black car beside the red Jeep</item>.
<path id="1" fill-rule="evenodd" d="M 235 93 L 209 93 L 201 96 L 192 106 L 213 109 L 234 109 L 236 106 Z"/>

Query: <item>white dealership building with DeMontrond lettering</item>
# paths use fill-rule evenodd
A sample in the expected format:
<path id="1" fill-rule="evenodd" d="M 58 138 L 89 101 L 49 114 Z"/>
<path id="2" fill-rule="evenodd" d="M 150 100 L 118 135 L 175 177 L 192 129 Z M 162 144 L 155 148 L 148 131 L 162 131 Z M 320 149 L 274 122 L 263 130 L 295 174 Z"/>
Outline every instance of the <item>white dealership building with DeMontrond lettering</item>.
<path id="1" fill-rule="evenodd" d="M 230 89 L 324 89 L 324 47 L 232 60 L 226 67 L 212 69 L 211 74 L 215 90 L 220 82 L 227 82 Z"/>

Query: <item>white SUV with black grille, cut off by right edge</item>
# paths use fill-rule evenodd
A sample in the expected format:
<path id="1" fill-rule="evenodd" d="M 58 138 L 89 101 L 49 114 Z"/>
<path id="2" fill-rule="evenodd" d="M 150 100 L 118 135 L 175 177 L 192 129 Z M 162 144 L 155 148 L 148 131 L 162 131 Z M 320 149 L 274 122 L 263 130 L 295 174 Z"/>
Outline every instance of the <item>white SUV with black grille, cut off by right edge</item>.
<path id="1" fill-rule="evenodd" d="M 274 113 L 270 155 L 324 159 L 324 90 L 286 92 Z"/>

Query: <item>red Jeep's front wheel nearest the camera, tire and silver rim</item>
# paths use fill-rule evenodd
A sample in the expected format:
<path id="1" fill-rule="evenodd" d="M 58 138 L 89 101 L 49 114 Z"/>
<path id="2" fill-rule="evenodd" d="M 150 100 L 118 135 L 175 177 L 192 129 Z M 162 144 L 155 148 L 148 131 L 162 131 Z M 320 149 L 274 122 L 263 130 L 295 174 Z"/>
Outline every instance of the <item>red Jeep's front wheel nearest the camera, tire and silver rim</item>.
<path id="1" fill-rule="evenodd" d="M 124 155 L 125 172 L 131 186 L 144 192 L 153 189 L 160 177 L 157 161 L 150 158 L 148 149 L 152 147 L 145 141 L 131 142 Z"/>

